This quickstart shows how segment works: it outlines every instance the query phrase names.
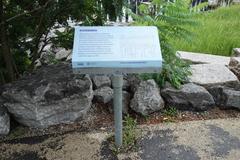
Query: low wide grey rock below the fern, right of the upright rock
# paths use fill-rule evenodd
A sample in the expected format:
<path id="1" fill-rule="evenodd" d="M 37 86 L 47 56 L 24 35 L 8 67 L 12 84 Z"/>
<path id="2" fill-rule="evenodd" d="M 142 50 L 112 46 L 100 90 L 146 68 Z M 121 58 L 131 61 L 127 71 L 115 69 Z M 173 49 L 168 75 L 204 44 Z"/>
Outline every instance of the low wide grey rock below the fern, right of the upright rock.
<path id="1" fill-rule="evenodd" d="M 184 84 L 180 89 L 165 88 L 161 92 L 169 106 L 183 110 L 206 110 L 214 106 L 211 94 L 202 86 L 193 83 Z"/>

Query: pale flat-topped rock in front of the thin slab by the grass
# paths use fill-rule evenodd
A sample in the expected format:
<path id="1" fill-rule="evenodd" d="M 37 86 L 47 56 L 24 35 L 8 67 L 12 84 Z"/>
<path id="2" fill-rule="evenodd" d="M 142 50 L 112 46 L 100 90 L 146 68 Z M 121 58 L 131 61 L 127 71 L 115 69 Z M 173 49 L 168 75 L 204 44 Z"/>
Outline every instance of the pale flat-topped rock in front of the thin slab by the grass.
<path id="1" fill-rule="evenodd" d="M 238 78 L 224 65 L 198 64 L 191 65 L 192 75 L 190 82 L 202 86 L 213 85 L 235 85 L 239 83 Z"/>

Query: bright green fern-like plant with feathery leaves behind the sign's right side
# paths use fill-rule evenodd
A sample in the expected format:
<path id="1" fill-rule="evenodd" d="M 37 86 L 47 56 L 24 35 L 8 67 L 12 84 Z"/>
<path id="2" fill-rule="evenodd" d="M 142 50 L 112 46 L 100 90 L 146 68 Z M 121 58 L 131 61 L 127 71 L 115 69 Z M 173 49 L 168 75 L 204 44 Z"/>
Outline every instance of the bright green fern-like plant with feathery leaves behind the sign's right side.
<path id="1" fill-rule="evenodd" d="M 153 0 L 149 4 L 139 6 L 139 14 L 131 15 L 133 25 L 156 26 L 160 37 L 162 55 L 164 58 L 163 70 L 160 75 L 143 75 L 145 78 L 154 78 L 160 86 L 169 81 L 176 88 L 187 80 L 191 74 L 189 64 L 176 55 L 175 48 L 169 43 L 170 38 L 182 39 L 191 42 L 193 34 L 186 28 L 187 25 L 197 25 L 193 20 L 194 13 L 190 12 L 188 0 Z"/>

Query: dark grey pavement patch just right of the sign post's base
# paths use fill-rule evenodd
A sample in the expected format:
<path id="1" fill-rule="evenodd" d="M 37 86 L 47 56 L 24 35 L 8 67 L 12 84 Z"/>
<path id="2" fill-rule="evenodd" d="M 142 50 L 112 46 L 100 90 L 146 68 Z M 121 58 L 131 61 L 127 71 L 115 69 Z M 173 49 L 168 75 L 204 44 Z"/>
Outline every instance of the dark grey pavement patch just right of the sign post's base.
<path id="1" fill-rule="evenodd" d="M 199 160 L 197 152 L 184 145 L 174 142 L 177 137 L 173 136 L 170 129 L 149 133 L 140 142 L 140 157 L 145 160 Z"/>

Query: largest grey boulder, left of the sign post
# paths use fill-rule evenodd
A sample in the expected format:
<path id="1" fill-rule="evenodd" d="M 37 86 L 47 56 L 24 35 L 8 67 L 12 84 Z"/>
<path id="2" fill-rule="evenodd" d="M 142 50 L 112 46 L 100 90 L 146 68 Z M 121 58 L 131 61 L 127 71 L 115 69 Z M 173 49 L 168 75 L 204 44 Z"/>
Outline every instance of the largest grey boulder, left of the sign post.
<path id="1" fill-rule="evenodd" d="M 50 65 L 8 86 L 5 106 L 23 125 L 45 128 L 84 118 L 91 107 L 89 76 L 72 73 L 69 65 Z"/>

